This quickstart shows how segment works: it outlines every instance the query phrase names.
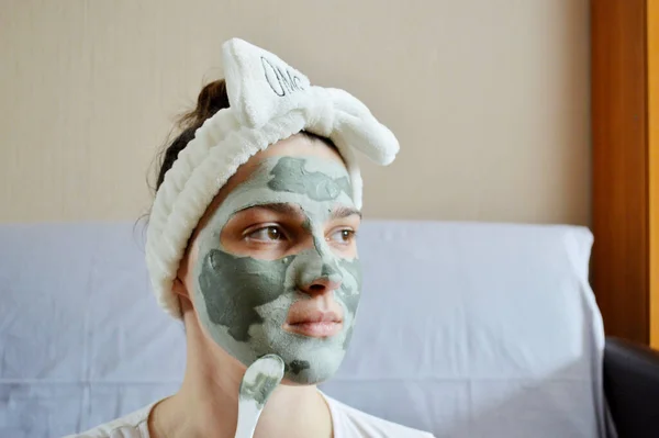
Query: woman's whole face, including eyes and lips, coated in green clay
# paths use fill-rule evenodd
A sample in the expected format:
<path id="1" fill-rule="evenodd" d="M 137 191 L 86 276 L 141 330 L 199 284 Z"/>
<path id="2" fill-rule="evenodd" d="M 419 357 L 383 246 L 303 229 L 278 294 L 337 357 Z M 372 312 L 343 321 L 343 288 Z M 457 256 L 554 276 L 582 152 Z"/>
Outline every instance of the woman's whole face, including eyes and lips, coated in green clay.
<path id="1" fill-rule="evenodd" d="M 291 382 L 330 378 L 360 295 L 360 214 L 351 195 L 338 154 L 302 135 L 243 165 L 181 266 L 205 334 L 245 366 L 279 355 Z"/>

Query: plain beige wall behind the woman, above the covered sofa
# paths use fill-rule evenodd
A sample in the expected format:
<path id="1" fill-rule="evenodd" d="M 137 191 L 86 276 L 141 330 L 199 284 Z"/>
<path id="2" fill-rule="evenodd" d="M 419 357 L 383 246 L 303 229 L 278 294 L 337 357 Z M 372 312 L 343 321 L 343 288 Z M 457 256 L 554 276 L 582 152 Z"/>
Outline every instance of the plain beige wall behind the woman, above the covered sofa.
<path id="1" fill-rule="evenodd" d="M 590 223 L 588 0 L 2 0 L 0 222 L 138 217 L 232 36 L 398 134 L 367 216 Z"/>

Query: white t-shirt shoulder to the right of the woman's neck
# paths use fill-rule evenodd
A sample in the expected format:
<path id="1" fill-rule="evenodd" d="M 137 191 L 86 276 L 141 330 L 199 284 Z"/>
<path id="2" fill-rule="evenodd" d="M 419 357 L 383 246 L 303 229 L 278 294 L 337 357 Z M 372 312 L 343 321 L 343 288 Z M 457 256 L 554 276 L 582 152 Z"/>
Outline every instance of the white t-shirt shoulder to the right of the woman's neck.
<path id="1" fill-rule="evenodd" d="M 434 438 L 427 431 L 378 418 L 326 394 L 323 396 L 332 412 L 335 438 Z"/>

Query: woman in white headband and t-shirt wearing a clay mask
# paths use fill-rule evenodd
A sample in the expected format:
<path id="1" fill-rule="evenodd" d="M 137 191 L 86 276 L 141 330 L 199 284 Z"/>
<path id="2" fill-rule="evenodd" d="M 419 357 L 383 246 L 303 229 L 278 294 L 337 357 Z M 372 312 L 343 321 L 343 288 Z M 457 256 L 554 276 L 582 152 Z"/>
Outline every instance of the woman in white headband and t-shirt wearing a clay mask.
<path id="1" fill-rule="evenodd" d="M 168 147 L 146 257 L 160 305 L 181 318 L 175 395 L 81 437 L 233 437 L 246 367 L 275 353 L 284 380 L 255 437 L 431 437 L 353 409 L 316 384 L 340 364 L 360 294 L 359 150 L 398 142 L 342 90 L 312 87 L 273 54 L 232 40 Z"/>

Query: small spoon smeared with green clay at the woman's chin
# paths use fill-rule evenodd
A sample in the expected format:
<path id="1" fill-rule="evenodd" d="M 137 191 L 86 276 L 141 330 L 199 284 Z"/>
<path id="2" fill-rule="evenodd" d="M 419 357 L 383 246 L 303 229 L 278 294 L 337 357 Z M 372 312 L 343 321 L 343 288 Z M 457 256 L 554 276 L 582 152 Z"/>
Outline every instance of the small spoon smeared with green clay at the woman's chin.
<path id="1" fill-rule="evenodd" d="M 252 438 L 266 402 L 283 379 L 283 360 L 277 355 L 266 355 L 252 363 L 238 394 L 238 425 L 235 438 Z"/>

